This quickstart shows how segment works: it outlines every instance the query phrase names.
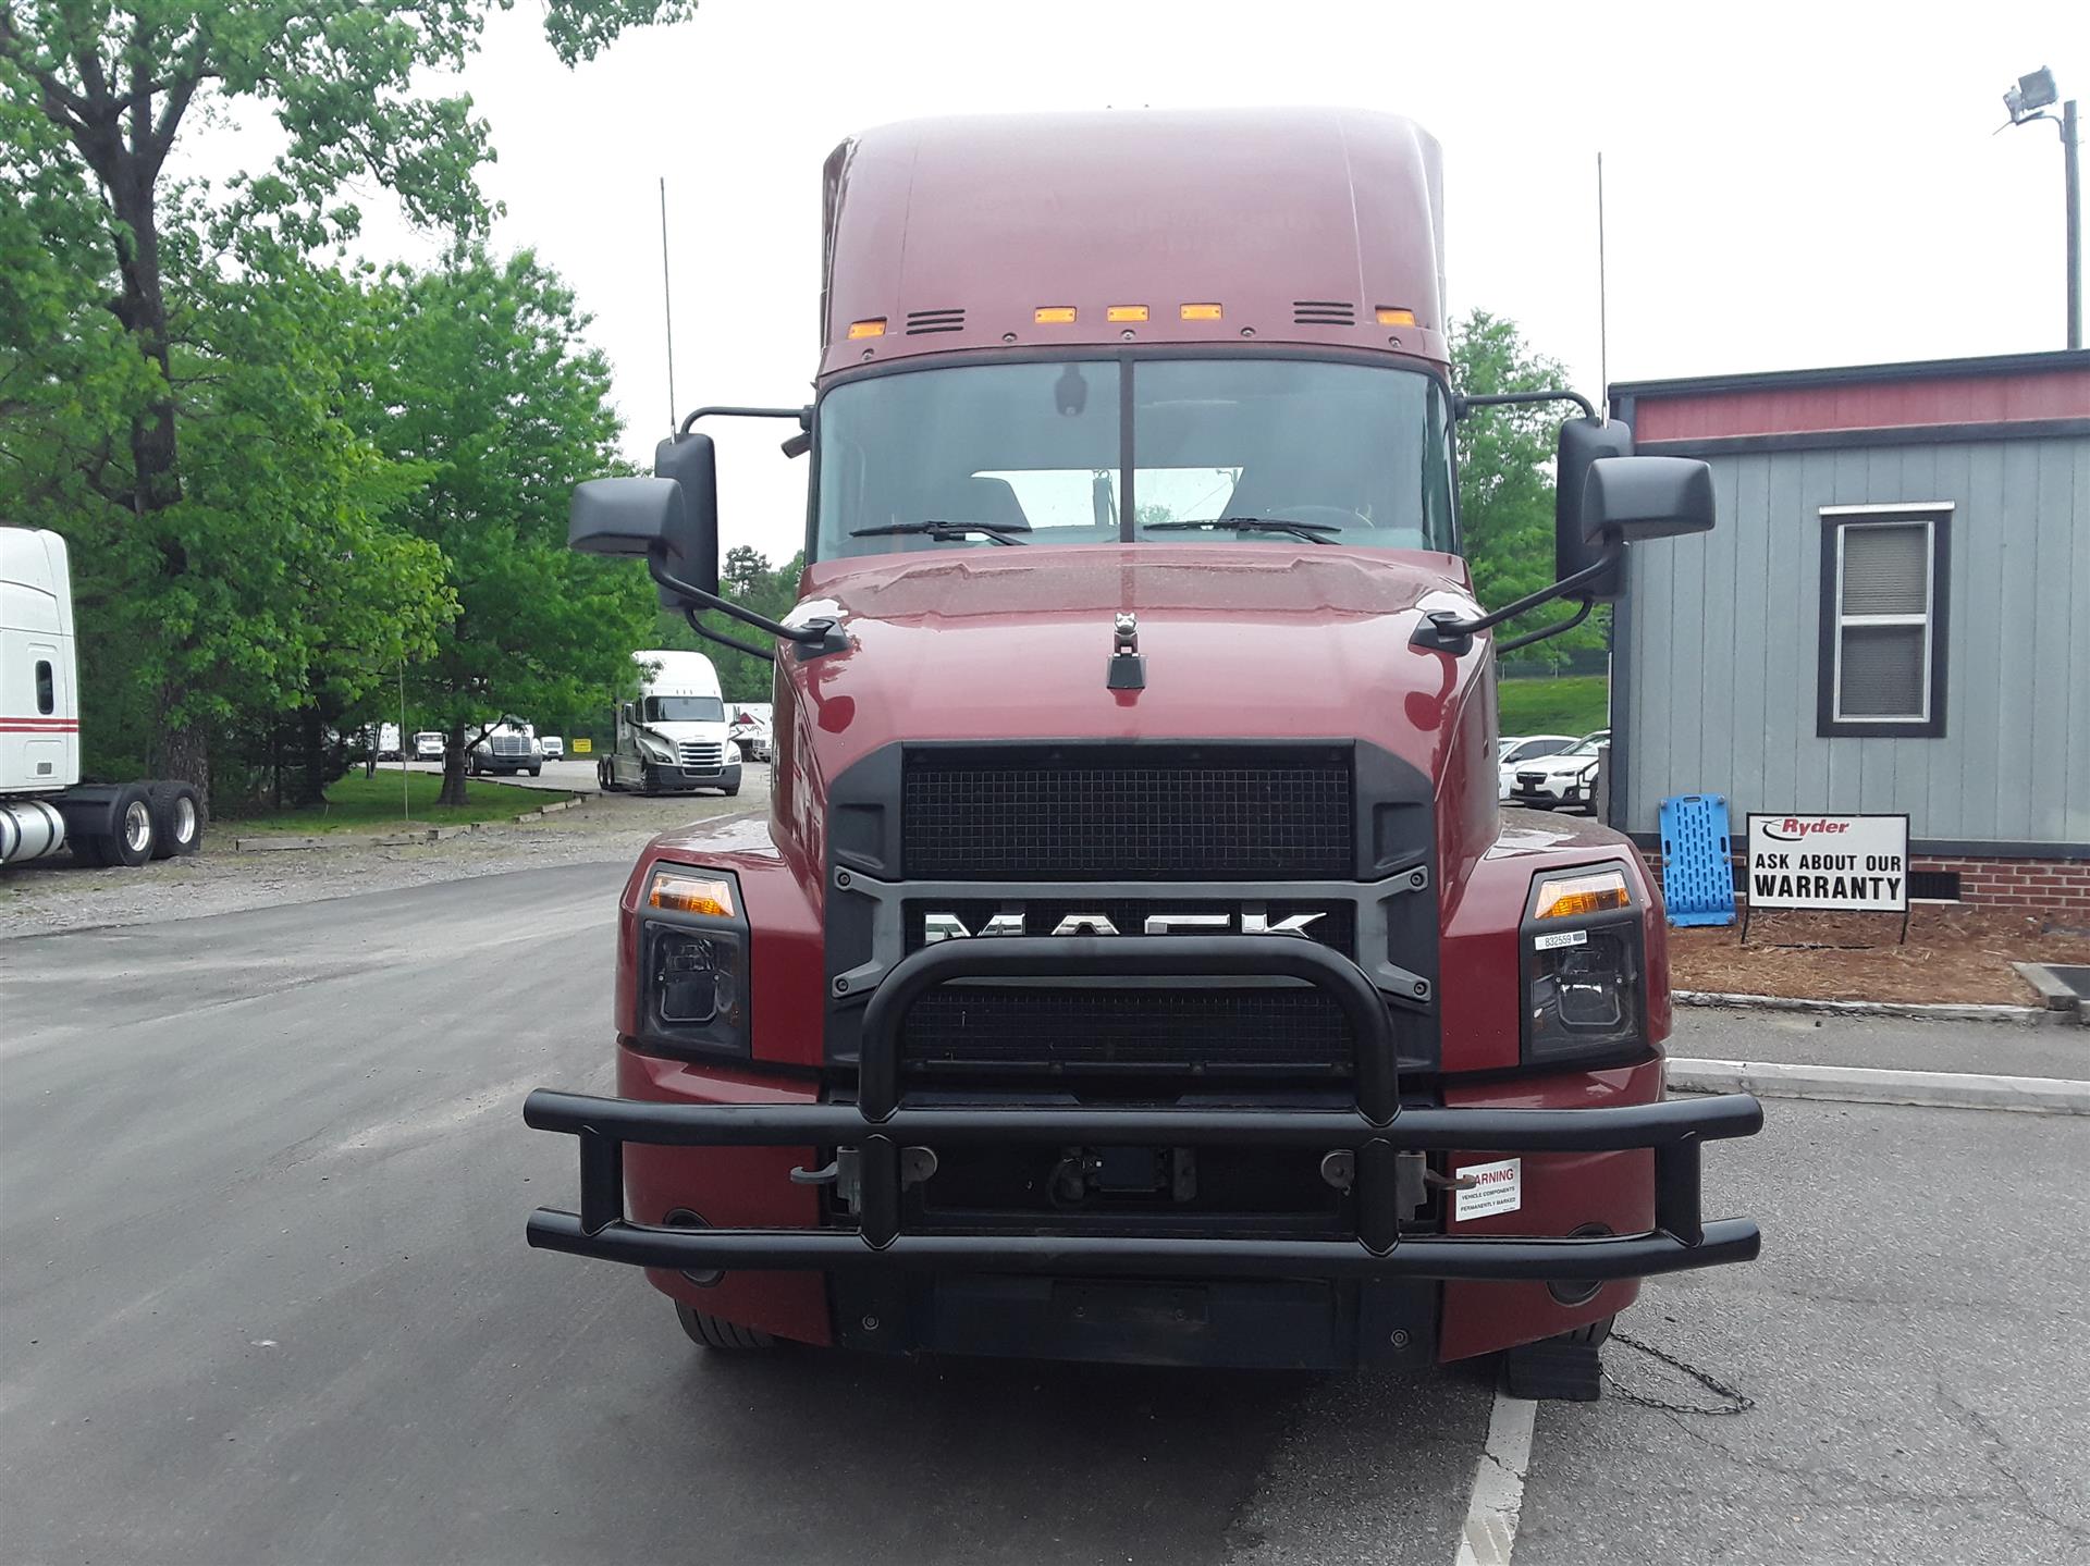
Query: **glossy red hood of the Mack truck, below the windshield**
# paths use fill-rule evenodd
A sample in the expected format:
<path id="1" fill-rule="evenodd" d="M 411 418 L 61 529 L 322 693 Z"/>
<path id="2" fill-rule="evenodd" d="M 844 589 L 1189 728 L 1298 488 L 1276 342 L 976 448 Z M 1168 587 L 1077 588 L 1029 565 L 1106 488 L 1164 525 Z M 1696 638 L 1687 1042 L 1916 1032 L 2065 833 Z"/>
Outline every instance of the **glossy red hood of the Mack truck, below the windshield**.
<path id="1" fill-rule="evenodd" d="M 1434 608 L 1473 613 L 1457 556 L 938 550 L 809 569 L 792 619 L 836 615 L 851 646 L 780 669 L 826 776 L 895 740 L 1354 736 L 1440 778 L 1486 644 L 1463 659 L 1409 646 Z M 1139 623 L 1143 690 L 1104 684 L 1122 611 Z"/>

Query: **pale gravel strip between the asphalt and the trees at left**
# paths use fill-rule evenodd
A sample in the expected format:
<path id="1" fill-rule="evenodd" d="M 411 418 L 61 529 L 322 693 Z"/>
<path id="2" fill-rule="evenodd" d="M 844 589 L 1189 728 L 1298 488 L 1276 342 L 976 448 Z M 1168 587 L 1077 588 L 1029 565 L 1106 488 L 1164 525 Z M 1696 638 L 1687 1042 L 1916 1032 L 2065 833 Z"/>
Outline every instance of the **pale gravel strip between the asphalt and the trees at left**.
<path id="1" fill-rule="evenodd" d="M 658 832 L 702 820 L 754 822 L 767 811 L 767 799 L 769 767 L 750 765 L 736 799 L 594 794 L 577 809 L 527 826 L 481 826 L 441 843 L 399 849 L 345 836 L 324 849 L 234 853 L 236 828 L 213 824 L 203 853 L 192 859 L 102 870 L 59 855 L 10 866 L 0 872 L 0 939 L 205 918 L 508 870 L 629 863 Z M 516 790 L 516 811 L 533 807 L 533 797 Z"/>

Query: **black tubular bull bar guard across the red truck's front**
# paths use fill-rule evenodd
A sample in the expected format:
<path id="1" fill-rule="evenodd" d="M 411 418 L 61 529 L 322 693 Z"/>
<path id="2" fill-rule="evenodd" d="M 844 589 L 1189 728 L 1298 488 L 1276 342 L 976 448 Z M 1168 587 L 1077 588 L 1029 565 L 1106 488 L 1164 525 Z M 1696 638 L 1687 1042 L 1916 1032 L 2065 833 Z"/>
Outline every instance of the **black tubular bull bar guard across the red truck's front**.
<path id="1" fill-rule="evenodd" d="M 1300 1108 L 903 1108 L 899 1035 L 907 1008 L 953 978 L 1250 974 L 1329 993 L 1356 1041 L 1356 1102 Z M 895 964 L 863 1014 L 855 1104 L 652 1104 L 533 1091 L 522 1119 L 581 1142 L 581 1211 L 537 1208 L 529 1244 L 673 1271 L 909 1269 L 1137 1277 L 1618 1280 L 1754 1261 L 1751 1219 L 1699 1215 L 1699 1148 L 1754 1135 L 1747 1093 L 1616 1108 L 1402 1108 L 1386 1001 L 1338 951 L 1283 935 L 1024 937 L 945 941 Z M 663 1148 L 815 1146 L 855 1150 L 857 1227 L 696 1229 L 625 1217 L 623 1144 Z M 1356 1236 L 1331 1240 L 924 1234 L 901 1229 L 903 1150 L 938 1144 L 1264 1146 L 1348 1152 Z M 1655 1154 L 1655 1227 L 1634 1236 L 1402 1236 L 1423 1200 L 1427 1152 Z"/>

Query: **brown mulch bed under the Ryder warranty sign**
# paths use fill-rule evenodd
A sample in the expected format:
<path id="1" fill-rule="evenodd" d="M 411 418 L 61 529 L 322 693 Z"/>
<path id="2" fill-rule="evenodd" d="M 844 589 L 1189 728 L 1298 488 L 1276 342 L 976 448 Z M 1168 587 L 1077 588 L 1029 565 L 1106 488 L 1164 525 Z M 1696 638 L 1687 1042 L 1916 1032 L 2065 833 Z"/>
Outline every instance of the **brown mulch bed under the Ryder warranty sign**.
<path id="1" fill-rule="evenodd" d="M 1831 1001 L 2036 1006 L 2013 962 L 2090 964 L 2090 930 L 1996 907 L 1900 914 L 1764 912 L 1733 928 L 1670 930 L 1670 985 Z"/>

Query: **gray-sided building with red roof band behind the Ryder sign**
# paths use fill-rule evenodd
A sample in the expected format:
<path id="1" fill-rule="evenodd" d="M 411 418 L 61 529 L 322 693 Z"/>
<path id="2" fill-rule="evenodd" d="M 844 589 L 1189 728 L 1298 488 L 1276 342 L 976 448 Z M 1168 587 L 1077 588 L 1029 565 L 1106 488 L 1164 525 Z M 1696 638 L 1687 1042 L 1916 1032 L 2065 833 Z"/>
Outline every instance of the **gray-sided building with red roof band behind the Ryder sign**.
<path id="1" fill-rule="evenodd" d="M 2090 914 L 2090 353 L 1611 389 L 1720 523 L 1628 552 L 1611 824 L 1906 811 L 1919 895 Z"/>

